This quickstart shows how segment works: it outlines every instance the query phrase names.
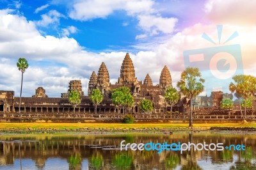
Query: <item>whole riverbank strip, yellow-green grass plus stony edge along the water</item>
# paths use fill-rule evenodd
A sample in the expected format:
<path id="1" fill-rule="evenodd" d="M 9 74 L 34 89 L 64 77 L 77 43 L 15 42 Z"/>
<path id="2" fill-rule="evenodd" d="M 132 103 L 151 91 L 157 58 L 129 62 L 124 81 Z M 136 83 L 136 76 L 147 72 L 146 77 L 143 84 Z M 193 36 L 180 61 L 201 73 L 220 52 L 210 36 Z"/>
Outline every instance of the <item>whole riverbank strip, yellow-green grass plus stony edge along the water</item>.
<path id="1" fill-rule="evenodd" d="M 188 123 L 0 123 L 0 132 L 14 134 L 54 134 L 65 132 L 83 132 L 84 134 L 116 132 L 172 134 L 173 132 L 201 132 L 208 130 L 218 132 L 256 132 L 256 123 L 195 123 L 192 128 L 188 127 Z"/>

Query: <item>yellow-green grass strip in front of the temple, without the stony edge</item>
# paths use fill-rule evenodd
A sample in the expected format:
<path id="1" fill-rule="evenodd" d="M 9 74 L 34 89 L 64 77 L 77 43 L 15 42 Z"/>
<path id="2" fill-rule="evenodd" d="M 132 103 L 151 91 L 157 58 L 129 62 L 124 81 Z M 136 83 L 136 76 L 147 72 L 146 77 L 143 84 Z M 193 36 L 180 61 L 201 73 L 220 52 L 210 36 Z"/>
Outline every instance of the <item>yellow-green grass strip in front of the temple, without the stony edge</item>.
<path id="1" fill-rule="evenodd" d="M 177 128 L 188 127 L 188 123 L 0 123 L 0 128 Z M 194 123 L 193 127 L 254 127 L 256 122 L 250 123 Z"/>

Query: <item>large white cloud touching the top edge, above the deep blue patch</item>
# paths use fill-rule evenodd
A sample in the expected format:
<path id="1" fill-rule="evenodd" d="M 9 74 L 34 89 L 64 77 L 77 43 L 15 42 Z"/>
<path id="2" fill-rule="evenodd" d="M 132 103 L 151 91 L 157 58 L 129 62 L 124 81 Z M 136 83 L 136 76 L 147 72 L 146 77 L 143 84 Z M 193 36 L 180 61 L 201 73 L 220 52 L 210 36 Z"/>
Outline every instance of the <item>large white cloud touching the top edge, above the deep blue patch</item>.
<path id="1" fill-rule="evenodd" d="M 154 4 L 155 1 L 152 0 L 77 1 L 73 4 L 69 16 L 72 19 L 86 21 L 97 18 L 104 19 L 117 10 L 124 10 L 127 15 L 138 19 L 138 26 L 146 31 L 145 35 L 147 36 L 157 35 L 159 31 L 164 34 L 173 33 L 178 20 L 173 17 L 161 17 L 159 11 L 154 9 Z M 125 22 L 123 26 L 126 26 Z"/>

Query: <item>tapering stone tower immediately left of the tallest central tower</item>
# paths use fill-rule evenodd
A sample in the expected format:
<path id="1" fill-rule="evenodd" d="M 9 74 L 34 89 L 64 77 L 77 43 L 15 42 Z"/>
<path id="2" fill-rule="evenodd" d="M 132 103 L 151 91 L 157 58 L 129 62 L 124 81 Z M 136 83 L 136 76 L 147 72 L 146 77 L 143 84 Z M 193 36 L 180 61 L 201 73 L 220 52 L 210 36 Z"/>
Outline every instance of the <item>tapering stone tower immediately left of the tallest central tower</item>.
<path id="1" fill-rule="evenodd" d="M 105 63 L 102 62 L 97 75 L 97 88 L 100 89 L 104 97 L 110 93 L 109 73 Z"/>

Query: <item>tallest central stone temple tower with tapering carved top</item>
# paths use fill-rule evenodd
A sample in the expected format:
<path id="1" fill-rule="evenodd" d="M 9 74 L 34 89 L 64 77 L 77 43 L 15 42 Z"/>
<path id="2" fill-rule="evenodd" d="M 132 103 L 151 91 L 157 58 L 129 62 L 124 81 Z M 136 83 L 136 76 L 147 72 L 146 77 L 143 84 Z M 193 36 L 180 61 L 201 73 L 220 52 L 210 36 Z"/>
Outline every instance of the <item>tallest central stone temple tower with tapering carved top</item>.
<path id="1" fill-rule="evenodd" d="M 120 84 L 120 85 L 132 84 L 136 81 L 137 79 L 135 78 L 135 70 L 134 70 L 132 60 L 129 56 L 129 53 L 126 53 L 121 66 L 120 77 L 118 78 L 117 84 Z"/>

